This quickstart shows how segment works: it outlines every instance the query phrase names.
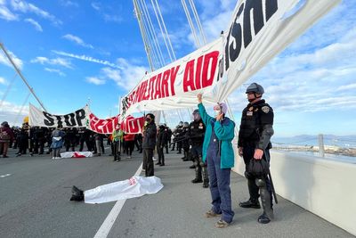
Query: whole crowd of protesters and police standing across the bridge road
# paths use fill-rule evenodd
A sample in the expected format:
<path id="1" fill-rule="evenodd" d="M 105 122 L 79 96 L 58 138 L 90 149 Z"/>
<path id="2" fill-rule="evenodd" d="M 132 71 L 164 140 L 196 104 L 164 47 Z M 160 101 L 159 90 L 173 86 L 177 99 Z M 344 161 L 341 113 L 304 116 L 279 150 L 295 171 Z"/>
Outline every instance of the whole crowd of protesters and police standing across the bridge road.
<path id="1" fill-rule="evenodd" d="M 245 176 L 250 198 L 239 203 L 241 208 L 260 209 L 261 198 L 263 214 L 258 222 L 267 224 L 273 219 L 273 186 L 269 172 L 271 136 L 273 135 L 273 110 L 262 99 L 263 86 L 256 83 L 247 87 L 247 107 L 242 111 L 239 126 L 238 152 L 246 165 Z M 145 176 L 154 176 L 154 152 L 158 153 L 156 165 L 165 166 L 165 151 L 169 148 L 177 153 L 183 153 L 183 161 L 193 161 L 190 168 L 195 169 L 193 184 L 203 183 L 204 188 L 211 192 L 212 208 L 206 217 L 221 217 L 215 224 L 223 228 L 229 226 L 234 217 L 231 209 L 231 168 L 234 167 L 235 155 L 231 141 L 235 136 L 235 122 L 226 116 L 227 105 L 216 103 L 214 115 L 208 115 L 203 104 L 202 94 L 198 94 L 198 109 L 193 111 L 193 120 L 180 122 L 174 130 L 165 124 L 158 124 L 152 113 L 145 115 L 142 134 L 125 134 L 118 124 L 111 135 L 96 134 L 85 128 L 62 128 L 61 125 L 51 129 L 46 127 L 28 127 L 25 122 L 22 127 L 10 127 L 4 121 L 0 127 L 0 152 L 7 157 L 8 148 L 19 151 L 17 156 L 34 153 L 44 153 L 44 145 L 49 147 L 47 153 L 53 152 L 53 159 L 61 157 L 61 148 L 68 152 L 79 147 L 96 153 L 105 153 L 104 137 L 111 145 L 111 155 L 114 161 L 121 160 L 121 152 L 131 159 L 136 145 L 142 153 L 142 170 Z M 173 139 L 172 139 L 173 138 Z"/>

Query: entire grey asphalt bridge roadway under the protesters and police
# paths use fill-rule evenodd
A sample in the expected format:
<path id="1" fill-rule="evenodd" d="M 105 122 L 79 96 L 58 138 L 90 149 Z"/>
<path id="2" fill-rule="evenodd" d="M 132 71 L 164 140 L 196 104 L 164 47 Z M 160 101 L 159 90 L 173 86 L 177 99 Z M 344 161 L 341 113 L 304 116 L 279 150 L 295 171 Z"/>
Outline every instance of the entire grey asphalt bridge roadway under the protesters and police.
<path id="1" fill-rule="evenodd" d="M 165 167 L 155 166 L 164 185 L 157 194 L 94 205 L 69 201 L 72 185 L 88 190 L 141 171 L 142 154 L 114 162 L 109 148 L 106 152 L 52 160 L 47 154 L 14 157 L 11 151 L 10 158 L 0 158 L 0 237 L 353 237 L 280 197 L 275 221 L 258 224 L 262 209 L 239 208 L 239 201 L 248 198 L 247 183 L 233 172 L 235 217 L 231 226 L 215 228 L 218 218 L 204 217 L 210 209 L 209 189 L 190 183 L 191 162 L 183 162 L 176 152 L 166 154 Z"/>

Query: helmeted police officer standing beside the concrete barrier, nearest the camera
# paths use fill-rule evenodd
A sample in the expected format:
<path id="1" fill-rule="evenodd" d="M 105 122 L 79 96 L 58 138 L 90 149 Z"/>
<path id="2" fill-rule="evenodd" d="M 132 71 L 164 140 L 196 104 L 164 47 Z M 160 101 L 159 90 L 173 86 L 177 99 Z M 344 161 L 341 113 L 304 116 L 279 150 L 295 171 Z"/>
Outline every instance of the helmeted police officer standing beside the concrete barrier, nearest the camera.
<path id="1" fill-rule="evenodd" d="M 247 177 L 250 198 L 242 201 L 242 208 L 260 209 L 258 201 L 261 195 L 263 214 L 258 217 L 259 223 L 269 223 L 273 218 L 271 183 L 268 175 L 256 176 L 255 171 L 249 166 L 255 160 L 266 161 L 269 167 L 271 135 L 273 135 L 273 110 L 262 99 L 263 86 L 256 83 L 247 87 L 246 94 L 248 104 L 242 111 L 241 124 L 239 127 L 239 155 L 243 157 L 246 165 L 245 176 Z M 254 161 L 253 161 L 254 160 Z"/>

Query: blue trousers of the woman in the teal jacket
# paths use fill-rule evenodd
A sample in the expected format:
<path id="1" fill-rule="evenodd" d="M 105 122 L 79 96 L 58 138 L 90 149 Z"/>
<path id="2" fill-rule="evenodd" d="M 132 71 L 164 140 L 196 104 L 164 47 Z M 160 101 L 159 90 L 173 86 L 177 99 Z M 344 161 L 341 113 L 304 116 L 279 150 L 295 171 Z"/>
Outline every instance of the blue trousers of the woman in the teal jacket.
<path id="1" fill-rule="evenodd" d="M 209 150 L 206 160 L 214 213 L 222 214 L 222 219 L 231 223 L 235 214 L 231 209 L 231 168 L 220 168 L 221 158 L 216 150 Z"/>

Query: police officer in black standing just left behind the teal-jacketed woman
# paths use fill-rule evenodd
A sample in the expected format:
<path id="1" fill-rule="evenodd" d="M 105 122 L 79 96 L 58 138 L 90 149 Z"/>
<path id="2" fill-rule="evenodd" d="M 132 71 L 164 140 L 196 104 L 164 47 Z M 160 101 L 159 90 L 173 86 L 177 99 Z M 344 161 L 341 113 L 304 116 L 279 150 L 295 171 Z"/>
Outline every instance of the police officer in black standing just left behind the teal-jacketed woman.
<path id="1" fill-rule="evenodd" d="M 191 180 L 191 183 L 197 184 L 204 180 L 203 187 L 209 186 L 209 178 L 207 175 L 206 163 L 202 160 L 202 146 L 204 142 L 204 135 L 206 133 L 206 126 L 200 117 L 199 110 L 193 111 L 194 120 L 190 122 L 188 136 L 190 138 L 190 153 L 194 160 L 195 165 L 195 178 Z M 203 179 L 201 172 L 203 170 Z"/>

